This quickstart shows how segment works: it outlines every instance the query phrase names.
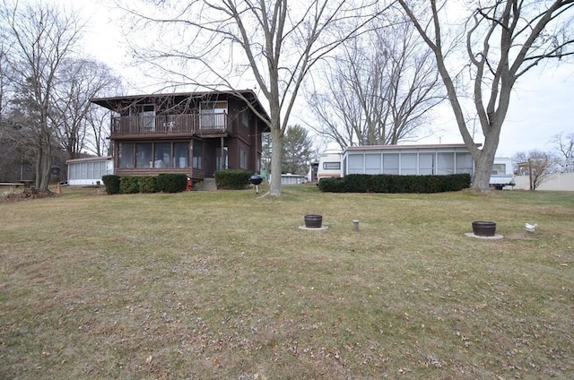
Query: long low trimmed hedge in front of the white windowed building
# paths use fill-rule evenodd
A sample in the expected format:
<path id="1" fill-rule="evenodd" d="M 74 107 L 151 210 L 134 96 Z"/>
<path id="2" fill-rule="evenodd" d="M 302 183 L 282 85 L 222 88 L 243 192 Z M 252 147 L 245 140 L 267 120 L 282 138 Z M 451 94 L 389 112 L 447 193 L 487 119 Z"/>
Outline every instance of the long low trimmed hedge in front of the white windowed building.
<path id="1" fill-rule="evenodd" d="M 398 176 L 350 174 L 343 178 L 323 178 L 319 190 L 327 193 L 441 193 L 470 187 L 468 173 L 448 176 Z"/>

